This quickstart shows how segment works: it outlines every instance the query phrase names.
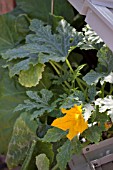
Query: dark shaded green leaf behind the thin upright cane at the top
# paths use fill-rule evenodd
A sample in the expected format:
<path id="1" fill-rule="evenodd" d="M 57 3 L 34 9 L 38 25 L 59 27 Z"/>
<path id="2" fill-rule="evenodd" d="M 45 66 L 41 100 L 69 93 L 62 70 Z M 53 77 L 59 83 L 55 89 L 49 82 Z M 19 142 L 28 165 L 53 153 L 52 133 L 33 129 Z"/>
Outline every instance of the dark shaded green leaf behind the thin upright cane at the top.
<path id="1" fill-rule="evenodd" d="M 43 21 L 49 20 L 51 12 L 51 0 L 17 0 L 17 5 L 31 18 L 38 18 Z M 74 11 L 66 0 L 54 0 L 54 14 L 63 16 L 72 22 Z"/>

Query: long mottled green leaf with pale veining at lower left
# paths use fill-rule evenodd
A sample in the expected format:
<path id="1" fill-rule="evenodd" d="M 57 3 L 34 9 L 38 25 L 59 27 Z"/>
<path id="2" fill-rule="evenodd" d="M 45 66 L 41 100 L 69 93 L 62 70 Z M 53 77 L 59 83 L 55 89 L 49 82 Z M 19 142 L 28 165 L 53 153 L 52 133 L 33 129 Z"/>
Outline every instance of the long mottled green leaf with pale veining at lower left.
<path id="1" fill-rule="evenodd" d="M 16 120 L 6 157 L 9 169 L 24 162 L 32 141 L 36 139 L 36 128 L 37 123 L 31 121 L 27 113 L 21 114 Z"/>

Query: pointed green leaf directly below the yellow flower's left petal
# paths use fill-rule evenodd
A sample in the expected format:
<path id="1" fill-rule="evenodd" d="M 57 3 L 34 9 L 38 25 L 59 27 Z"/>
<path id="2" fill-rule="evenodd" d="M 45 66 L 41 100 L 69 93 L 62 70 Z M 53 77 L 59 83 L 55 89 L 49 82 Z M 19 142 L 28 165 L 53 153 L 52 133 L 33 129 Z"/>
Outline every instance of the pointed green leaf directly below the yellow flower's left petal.
<path id="1" fill-rule="evenodd" d="M 65 137 L 66 134 L 67 132 L 53 127 L 52 129 L 49 129 L 47 131 L 46 135 L 44 136 L 42 140 L 45 142 L 57 142 L 63 137 Z"/>

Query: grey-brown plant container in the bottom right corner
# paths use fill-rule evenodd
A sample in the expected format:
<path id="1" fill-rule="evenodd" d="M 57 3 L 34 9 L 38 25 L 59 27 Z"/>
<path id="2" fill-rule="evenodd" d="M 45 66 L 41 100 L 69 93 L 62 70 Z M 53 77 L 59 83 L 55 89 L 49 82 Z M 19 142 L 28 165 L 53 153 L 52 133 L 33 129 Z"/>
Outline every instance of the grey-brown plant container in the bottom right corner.
<path id="1" fill-rule="evenodd" d="M 69 163 L 71 170 L 113 170 L 113 138 L 83 148 Z"/>

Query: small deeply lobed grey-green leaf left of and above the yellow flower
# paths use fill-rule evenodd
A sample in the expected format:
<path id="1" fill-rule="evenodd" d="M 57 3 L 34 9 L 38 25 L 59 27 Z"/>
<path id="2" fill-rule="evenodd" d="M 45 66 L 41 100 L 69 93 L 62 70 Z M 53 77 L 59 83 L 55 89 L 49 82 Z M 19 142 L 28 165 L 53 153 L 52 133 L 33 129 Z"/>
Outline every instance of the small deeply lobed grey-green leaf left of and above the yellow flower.
<path id="1" fill-rule="evenodd" d="M 15 111 L 20 111 L 23 109 L 30 111 L 36 109 L 33 111 L 32 119 L 43 116 L 45 112 L 51 112 L 56 107 L 54 102 L 49 103 L 53 93 L 49 90 L 42 89 L 40 91 L 40 95 L 38 95 L 37 92 L 27 91 L 27 96 L 30 98 L 30 100 L 25 100 L 24 104 L 18 105 Z"/>

